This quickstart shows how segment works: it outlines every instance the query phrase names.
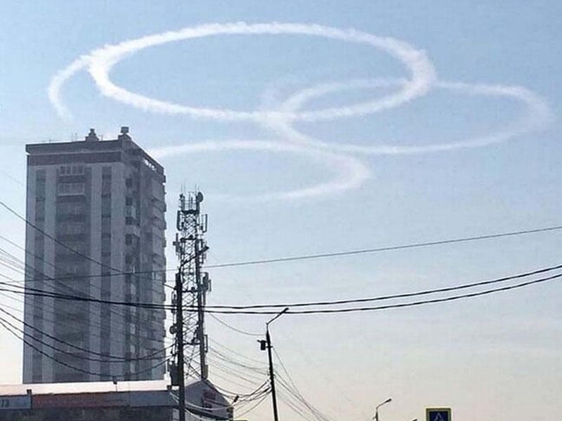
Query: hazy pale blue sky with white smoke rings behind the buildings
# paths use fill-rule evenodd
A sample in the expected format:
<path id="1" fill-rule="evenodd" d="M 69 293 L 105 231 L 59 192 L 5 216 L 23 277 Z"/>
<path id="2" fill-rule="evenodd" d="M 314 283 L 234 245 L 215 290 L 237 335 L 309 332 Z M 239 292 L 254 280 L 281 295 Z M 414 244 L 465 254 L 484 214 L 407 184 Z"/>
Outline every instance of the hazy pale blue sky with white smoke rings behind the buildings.
<path id="1" fill-rule="evenodd" d="M 25 213 L 25 143 L 129 126 L 166 171 L 168 244 L 178 194 L 204 192 L 208 265 L 560 225 L 561 13 L 518 0 L 4 2 L 0 199 Z M 0 234 L 22 245 L 22 222 L 0 212 Z M 561 235 L 209 269 L 209 304 L 496 279 L 560 264 Z M 388 397 L 381 420 L 422 420 L 430 406 L 456 421 L 551 420 L 562 413 L 561 288 L 287 314 L 273 344 L 330 420 L 369 420 Z M 267 319 L 221 316 L 246 333 Z M 212 318 L 207 329 L 266 379 L 259 337 Z M 0 382 L 20 382 L 21 344 L 4 330 L 0 352 Z M 209 363 L 217 385 L 251 389 Z M 311 419 L 286 399 L 281 420 Z M 270 401 L 243 417 L 270 419 Z"/>

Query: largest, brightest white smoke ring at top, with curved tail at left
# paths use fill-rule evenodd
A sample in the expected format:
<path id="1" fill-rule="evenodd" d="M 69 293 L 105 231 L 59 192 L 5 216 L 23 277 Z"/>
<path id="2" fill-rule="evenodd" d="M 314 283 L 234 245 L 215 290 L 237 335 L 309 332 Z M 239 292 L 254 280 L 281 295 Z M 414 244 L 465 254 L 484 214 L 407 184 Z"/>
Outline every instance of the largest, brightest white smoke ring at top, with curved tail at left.
<path id="1" fill-rule="evenodd" d="M 150 46 L 158 46 L 173 41 L 202 38 L 216 35 L 256 35 L 256 34 L 300 34 L 336 39 L 344 42 L 367 44 L 384 51 L 403 62 L 411 74 L 411 79 L 403 84 L 402 89 L 379 100 L 360 102 L 348 107 L 332 107 L 313 112 L 240 112 L 232 109 L 214 109 L 192 107 L 188 105 L 166 102 L 148 98 L 138 93 L 132 93 L 116 86 L 110 80 L 110 71 L 117 62 L 125 57 L 141 51 Z M 91 76 L 103 95 L 124 102 L 128 105 L 145 111 L 164 114 L 183 114 L 192 117 L 218 120 L 250 120 L 282 118 L 289 120 L 318 121 L 338 117 L 370 114 L 381 109 L 396 107 L 403 102 L 410 101 L 419 95 L 424 95 L 431 83 L 435 81 L 436 74 L 433 65 L 426 58 L 423 51 L 416 50 L 410 44 L 390 37 L 381 37 L 355 29 L 337 29 L 321 25 L 306 25 L 299 23 L 257 23 L 235 22 L 226 24 L 207 24 L 196 27 L 187 27 L 178 31 L 163 32 L 142 38 L 123 41 L 119 44 L 98 48 L 89 55 L 72 62 L 51 81 L 49 98 L 61 116 L 67 116 L 67 109 L 60 100 L 60 88 L 64 81 L 79 69 L 88 67 Z"/>

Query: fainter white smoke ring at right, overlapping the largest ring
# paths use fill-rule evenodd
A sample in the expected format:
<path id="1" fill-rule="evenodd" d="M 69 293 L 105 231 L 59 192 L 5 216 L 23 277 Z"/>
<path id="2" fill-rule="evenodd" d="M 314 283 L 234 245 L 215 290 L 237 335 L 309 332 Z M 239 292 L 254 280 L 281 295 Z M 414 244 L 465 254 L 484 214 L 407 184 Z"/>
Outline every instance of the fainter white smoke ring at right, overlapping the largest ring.
<path id="1" fill-rule="evenodd" d="M 379 88 L 381 86 L 400 86 L 407 83 L 403 79 L 362 79 L 346 82 L 323 83 L 313 88 L 306 88 L 289 97 L 280 106 L 282 112 L 298 112 L 298 110 L 313 98 L 318 98 L 328 93 L 348 91 L 358 88 Z M 355 145 L 350 143 L 332 143 L 318 140 L 305 135 L 294 128 L 293 122 L 289 119 L 279 117 L 263 120 L 264 126 L 272 129 L 281 138 L 291 140 L 303 145 L 318 147 L 322 149 L 341 151 L 347 153 L 360 154 L 420 154 L 427 152 L 441 152 L 452 149 L 480 147 L 504 142 L 525 133 L 537 131 L 552 120 L 551 110 L 544 99 L 521 86 L 490 85 L 485 83 L 461 83 L 461 82 L 441 82 L 437 81 L 436 88 L 445 89 L 455 93 L 465 95 L 486 95 L 494 98 L 509 98 L 523 102 L 526 107 L 526 114 L 521 120 L 515 121 L 509 126 L 500 129 L 495 133 L 483 135 L 475 138 L 459 140 L 449 143 L 431 145 Z"/>

